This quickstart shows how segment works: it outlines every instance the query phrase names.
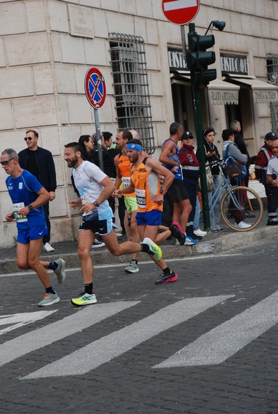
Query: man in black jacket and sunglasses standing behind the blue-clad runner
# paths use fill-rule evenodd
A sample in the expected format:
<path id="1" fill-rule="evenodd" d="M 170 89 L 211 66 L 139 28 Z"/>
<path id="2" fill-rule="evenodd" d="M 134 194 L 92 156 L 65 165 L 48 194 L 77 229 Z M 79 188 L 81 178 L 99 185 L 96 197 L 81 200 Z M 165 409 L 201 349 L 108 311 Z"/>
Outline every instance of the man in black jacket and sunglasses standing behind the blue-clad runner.
<path id="1" fill-rule="evenodd" d="M 57 188 L 54 161 L 50 151 L 38 146 L 38 139 L 37 131 L 26 131 L 24 140 L 28 148 L 19 152 L 19 165 L 37 177 L 41 185 L 50 193 L 50 201 L 53 201 Z M 49 202 L 43 205 L 43 213 L 48 227 L 48 235 L 43 236 L 43 249 L 46 252 L 53 252 L 54 248 L 50 244 Z"/>

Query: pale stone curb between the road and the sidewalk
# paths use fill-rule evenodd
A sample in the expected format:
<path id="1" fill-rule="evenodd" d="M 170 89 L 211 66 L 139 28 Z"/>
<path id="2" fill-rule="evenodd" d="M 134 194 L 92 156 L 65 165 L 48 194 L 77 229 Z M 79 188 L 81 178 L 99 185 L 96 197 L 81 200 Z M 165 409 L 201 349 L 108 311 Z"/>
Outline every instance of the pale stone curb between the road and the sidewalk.
<path id="1" fill-rule="evenodd" d="M 208 254 L 219 254 L 232 249 L 246 247 L 249 244 L 258 242 L 266 237 L 272 237 L 277 235 L 277 228 L 275 227 L 260 227 L 250 232 L 230 232 L 225 235 L 217 237 L 217 239 L 210 239 L 208 242 L 201 242 L 195 246 L 172 246 L 163 245 L 163 259 L 173 259 L 179 257 L 192 257 Z M 208 236 L 210 237 L 210 236 Z M 66 260 L 66 266 L 68 268 L 79 267 L 79 259 L 77 253 L 60 253 L 59 256 Z M 130 261 L 130 255 L 113 256 L 107 249 L 102 251 L 94 251 L 91 253 L 95 264 L 128 264 Z M 56 258 L 57 255 L 43 255 L 42 260 L 48 261 Z M 145 253 L 139 253 L 139 259 L 146 261 L 148 255 Z M 150 259 L 149 259 L 150 260 Z M 19 273 L 20 270 L 17 267 L 15 259 L 2 259 L 0 262 L 0 275 L 6 275 L 7 273 Z"/>

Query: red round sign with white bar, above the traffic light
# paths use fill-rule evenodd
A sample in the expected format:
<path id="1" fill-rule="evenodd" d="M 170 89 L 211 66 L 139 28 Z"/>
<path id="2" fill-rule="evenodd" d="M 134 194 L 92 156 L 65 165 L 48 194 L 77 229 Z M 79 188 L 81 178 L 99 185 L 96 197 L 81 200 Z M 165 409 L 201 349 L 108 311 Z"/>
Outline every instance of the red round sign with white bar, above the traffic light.
<path id="1" fill-rule="evenodd" d="M 168 21 L 186 24 L 199 12 L 199 0 L 162 0 L 162 11 Z"/>

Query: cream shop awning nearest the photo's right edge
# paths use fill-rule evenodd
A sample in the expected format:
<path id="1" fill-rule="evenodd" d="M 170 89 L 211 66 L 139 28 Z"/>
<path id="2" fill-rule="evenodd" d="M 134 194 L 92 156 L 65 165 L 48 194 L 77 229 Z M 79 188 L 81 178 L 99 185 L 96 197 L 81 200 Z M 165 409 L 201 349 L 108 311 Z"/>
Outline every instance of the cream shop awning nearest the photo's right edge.
<path id="1" fill-rule="evenodd" d="M 278 86 L 259 81 L 256 77 L 240 77 L 232 75 L 226 77 L 226 81 L 239 86 L 247 86 L 252 89 L 253 97 L 257 103 L 270 103 L 278 101 Z"/>

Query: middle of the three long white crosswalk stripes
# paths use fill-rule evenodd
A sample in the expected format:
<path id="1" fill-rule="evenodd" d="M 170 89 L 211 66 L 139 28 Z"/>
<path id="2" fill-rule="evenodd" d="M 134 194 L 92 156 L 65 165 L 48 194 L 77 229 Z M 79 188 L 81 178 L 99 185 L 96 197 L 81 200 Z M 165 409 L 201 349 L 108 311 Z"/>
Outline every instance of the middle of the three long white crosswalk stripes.
<path id="1" fill-rule="evenodd" d="M 211 306 L 224 302 L 230 297 L 232 295 L 183 299 L 160 309 L 156 313 L 141 319 L 139 322 L 135 322 L 115 333 L 102 337 L 78 351 L 23 377 L 23 379 L 87 373 L 97 368 L 97 366 L 109 362 L 112 358 L 129 351 L 151 337 L 195 317 Z M 51 331 L 48 332 L 48 335 L 51 335 Z"/>

